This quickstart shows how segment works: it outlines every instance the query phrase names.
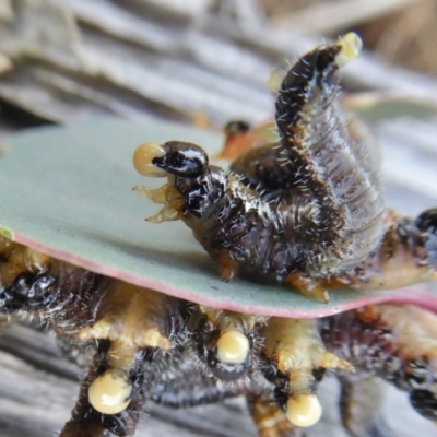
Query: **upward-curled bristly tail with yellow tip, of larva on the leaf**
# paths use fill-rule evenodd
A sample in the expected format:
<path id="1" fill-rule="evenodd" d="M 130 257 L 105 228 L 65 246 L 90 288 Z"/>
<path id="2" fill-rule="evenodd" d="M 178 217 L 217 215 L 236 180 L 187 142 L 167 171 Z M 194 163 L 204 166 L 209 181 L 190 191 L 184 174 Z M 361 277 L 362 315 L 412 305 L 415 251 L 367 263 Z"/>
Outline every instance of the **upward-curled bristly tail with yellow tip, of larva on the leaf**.
<path id="1" fill-rule="evenodd" d="M 284 78 L 276 101 L 279 153 L 294 173 L 296 192 L 287 222 L 298 231 L 314 274 L 356 265 L 382 235 L 378 172 L 366 163 L 366 144 L 351 139 L 336 101 L 336 70 L 359 48 L 359 38 L 347 34 L 305 55 Z"/>

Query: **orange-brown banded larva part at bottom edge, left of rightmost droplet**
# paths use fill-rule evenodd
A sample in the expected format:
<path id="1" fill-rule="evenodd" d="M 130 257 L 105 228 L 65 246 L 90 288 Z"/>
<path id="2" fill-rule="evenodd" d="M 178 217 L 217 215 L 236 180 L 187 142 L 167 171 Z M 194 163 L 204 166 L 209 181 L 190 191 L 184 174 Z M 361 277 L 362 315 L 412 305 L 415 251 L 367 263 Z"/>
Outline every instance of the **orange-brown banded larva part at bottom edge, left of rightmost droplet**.
<path id="1" fill-rule="evenodd" d="M 259 437 L 303 436 L 302 429 L 290 422 L 268 394 L 250 394 L 247 402 Z"/>

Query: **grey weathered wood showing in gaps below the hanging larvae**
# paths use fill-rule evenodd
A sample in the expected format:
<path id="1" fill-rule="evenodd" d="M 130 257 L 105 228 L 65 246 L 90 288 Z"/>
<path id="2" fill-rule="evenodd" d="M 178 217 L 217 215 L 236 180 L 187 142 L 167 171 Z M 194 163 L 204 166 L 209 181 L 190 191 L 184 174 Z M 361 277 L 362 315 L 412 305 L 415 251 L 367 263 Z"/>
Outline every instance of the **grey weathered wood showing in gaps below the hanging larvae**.
<path id="1" fill-rule="evenodd" d="M 0 429 L 2 437 L 47 437 L 70 415 L 79 390 L 80 367 L 62 356 L 50 333 L 14 324 L 0 338 Z M 324 416 L 308 437 L 346 437 L 339 427 L 335 381 L 323 382 Z M 408 405 L 405 395 L 388 391 L 385 413 L 399 437 L 436 435 L 434 426 Z M 402 416 L 402 421 L 399 417 Z M 241 399 L 189 410 L 149 405 L 138 437 L 253 437 L 255 427 Z"/>

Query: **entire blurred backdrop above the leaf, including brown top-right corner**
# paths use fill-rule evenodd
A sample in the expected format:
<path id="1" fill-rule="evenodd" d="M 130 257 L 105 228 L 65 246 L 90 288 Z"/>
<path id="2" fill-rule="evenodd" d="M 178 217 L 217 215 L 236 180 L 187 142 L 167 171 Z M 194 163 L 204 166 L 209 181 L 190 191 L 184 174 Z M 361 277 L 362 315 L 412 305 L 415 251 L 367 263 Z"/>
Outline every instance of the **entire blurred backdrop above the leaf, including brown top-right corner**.
<path id="1" fill-rule="evenodd" d="M 351 29 L 347 90 L 435 103 L 436 21 L 435 0 L 0 0 L 2 118 L 259 121 L 275 66 Z"/>

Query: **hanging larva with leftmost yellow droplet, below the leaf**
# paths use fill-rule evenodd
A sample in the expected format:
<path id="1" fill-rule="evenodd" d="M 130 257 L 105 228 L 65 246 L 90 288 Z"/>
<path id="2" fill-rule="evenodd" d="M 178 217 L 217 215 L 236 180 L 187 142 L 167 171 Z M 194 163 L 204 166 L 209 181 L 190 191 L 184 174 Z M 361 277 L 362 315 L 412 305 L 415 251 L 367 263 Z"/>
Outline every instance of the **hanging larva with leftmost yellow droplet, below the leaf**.
<path id="1" fill-rule="evenodd" d="M 79 437 L 101 423 L 117 436 L 133 434 L 172 354 L 175 326 L 180 324 L 176 309 L 174 299 L 157 292 L 120 281 L 108 285 L 94 323 L 76 334 L 80 341 L 95 341 L 98 353 L 62 437 Z"/>

